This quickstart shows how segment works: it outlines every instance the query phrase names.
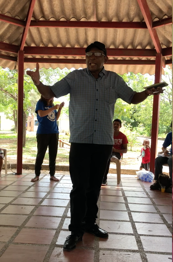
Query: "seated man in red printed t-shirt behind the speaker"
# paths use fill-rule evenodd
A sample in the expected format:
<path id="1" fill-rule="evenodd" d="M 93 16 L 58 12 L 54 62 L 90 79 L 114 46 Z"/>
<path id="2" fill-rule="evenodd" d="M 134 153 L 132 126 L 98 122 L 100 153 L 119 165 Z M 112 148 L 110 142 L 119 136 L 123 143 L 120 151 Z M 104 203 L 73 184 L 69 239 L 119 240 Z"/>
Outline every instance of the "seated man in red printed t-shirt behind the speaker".
<path id="1" fill-rule="evenodd" d="M 127 153 L 127 144 L 129 143 L 125 134 L 120 131 L 121 120 L 115 119 L 113 121 L 113 130 L 114 130 L 114 145 L 112 149 L 112 155 L 107 163 L 107 168 L 103 177 L 102 186 L 107 185 L 107 174 L 109 172 L 110 162 L 115 162 L 116 159 L 121 159 L 122 154 Z"/>

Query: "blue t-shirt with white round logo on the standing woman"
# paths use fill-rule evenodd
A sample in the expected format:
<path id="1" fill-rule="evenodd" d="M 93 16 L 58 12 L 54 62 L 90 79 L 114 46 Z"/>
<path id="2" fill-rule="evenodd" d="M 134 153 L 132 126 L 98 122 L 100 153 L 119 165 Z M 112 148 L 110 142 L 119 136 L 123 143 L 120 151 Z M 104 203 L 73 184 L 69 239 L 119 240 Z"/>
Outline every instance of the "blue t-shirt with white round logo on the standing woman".
<path id="1" fill-rule="evenodd" d="M 57 110 L 53 110 L 47 116 L 40 117 L 38 114 L 38 110 L 48 110 L 52 108 L 52 106 L 45 106 L 43 101 L 38 101 L 35 108 L 35 113 L 37 114 L 37 120 L 39 122 L 39 126 L 37 129 L 37 134 L 56 134 L 59 133 L 57 126 L 57 118 L 56 113 Z"/>

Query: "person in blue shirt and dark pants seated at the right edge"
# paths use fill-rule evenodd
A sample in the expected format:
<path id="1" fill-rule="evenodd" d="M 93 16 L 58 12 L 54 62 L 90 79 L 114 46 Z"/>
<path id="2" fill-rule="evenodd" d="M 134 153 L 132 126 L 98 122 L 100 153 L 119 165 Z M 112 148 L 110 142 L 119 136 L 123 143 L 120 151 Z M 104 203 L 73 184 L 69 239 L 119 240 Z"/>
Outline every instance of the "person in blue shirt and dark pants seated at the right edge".
<path id="1" fill-rule="evenodd" d="M 171 122 L 171 128 L 172 128 L 172 122 Z M 170 154 L 168 155 L 168 149 L 167 149 L 167 147 L 170 146 L 170 145 L 171 145 L 170 154 L 172 155 L 172 132 L 167 134 L 165 141 L 163 143 L 163 146 L 162 146 L 162 151 L 164 152 L 165 157 L 158 156 L 155 159 L 155 171 L 154 171 L 155 183 L 150 186 L 151 189 L 158 189 L 159 174 L 162 174 L 163 164 L 168 164 L 171 185 L 166 190 L 167 193 L 172 193 L 172 157 L 171 158 L 166 157 L 166 156 L 170 156 Z"/>

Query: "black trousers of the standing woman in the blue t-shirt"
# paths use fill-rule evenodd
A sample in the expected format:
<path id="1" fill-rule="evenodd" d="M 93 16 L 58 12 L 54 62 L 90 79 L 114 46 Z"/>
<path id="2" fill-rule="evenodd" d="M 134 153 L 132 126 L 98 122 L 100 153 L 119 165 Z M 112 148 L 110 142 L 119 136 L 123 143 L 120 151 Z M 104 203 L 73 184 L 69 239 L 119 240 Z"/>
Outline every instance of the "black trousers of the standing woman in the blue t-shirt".
<path id="1" fill-rule="evenodd" d="M 59 134 L 36 134 L 37 157 L 35 160 L 35 175 L 39 177 L 46 150 L 49 149 L 49 174 L 55 175 L 55 165 L 58 150 Z"/>

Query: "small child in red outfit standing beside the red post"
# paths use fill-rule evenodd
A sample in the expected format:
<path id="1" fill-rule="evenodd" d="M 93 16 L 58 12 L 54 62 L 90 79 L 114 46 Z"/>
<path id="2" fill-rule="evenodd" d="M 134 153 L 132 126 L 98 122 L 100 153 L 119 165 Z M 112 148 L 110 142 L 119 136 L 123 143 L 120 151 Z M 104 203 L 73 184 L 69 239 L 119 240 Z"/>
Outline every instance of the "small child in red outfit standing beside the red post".
<path id="1" fill-rule="evenodd" d="M 143 140 L 143 148 L 141 149 L 140 156 L 142 157 L 142 163 L 140 165 L 139 170 L 142 170 L 143 168 L 146 171 L 149 171 L 150 168 L 150 141 L 148 139 Z M 139 159 L 139 157 L 137 159 Z"/>

